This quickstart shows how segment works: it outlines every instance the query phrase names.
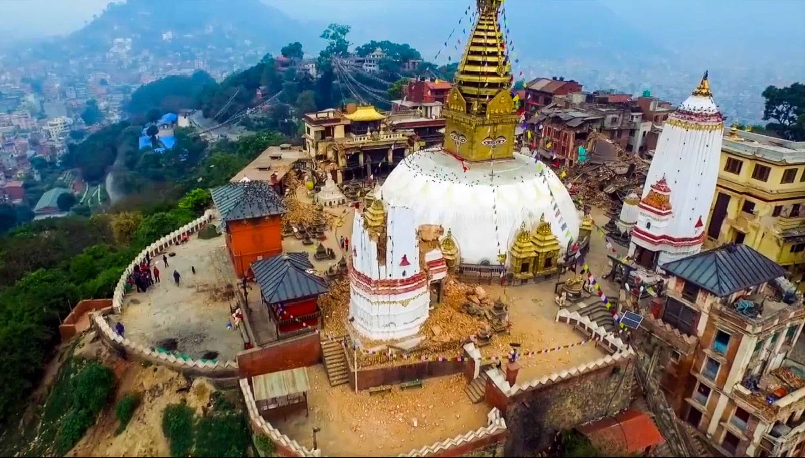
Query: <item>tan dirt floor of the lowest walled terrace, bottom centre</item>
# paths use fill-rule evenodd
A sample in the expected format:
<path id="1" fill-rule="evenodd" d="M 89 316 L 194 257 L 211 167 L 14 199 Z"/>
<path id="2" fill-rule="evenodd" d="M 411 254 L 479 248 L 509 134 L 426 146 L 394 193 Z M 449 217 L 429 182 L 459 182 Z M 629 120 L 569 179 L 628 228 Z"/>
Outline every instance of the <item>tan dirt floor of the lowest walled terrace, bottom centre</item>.
<path id="1" fill-rule="evenodd" d="M 332 388 L 321 365 L 308 368 L 308 376 L 310 416 L 289 415 L 271 424 L 308 448 L 312 428 L 320 427 L 318 445 L 325 456 L 397 456 L 485 426 L 490 409 L 469 401 L 460 374 L 374 395 L 355 394 L 346 385 Z"/>

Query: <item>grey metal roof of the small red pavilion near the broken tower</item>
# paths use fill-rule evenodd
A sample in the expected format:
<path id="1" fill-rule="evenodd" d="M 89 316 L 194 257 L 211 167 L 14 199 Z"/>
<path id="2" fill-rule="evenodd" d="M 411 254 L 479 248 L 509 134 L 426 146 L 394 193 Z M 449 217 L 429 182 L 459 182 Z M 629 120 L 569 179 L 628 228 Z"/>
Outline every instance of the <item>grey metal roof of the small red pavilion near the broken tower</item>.
<path id="1" fill-rule="evenodd" d="M 327 282 L 308 272 L 312 269 L 307 253 L 277 254 L 251 265 L 262 297 L 268 303 L 283 303 L 327 292 Z"/>

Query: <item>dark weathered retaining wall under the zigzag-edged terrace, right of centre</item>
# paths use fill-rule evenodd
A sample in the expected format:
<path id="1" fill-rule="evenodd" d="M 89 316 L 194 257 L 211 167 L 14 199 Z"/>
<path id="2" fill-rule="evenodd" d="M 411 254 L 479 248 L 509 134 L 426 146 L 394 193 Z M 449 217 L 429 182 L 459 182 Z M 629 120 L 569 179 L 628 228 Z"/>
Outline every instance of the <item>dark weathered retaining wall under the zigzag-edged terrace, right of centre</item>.
<path id="1" fill-rule="evenodd" d="M 506 456 L 541 452 L 551 444 L 557 431 L 622 411 L 630 405 L 633 382 L 634 361 L 625 358 L 576 377 L 514 394 L 506 407 L 510 430 Z"/>

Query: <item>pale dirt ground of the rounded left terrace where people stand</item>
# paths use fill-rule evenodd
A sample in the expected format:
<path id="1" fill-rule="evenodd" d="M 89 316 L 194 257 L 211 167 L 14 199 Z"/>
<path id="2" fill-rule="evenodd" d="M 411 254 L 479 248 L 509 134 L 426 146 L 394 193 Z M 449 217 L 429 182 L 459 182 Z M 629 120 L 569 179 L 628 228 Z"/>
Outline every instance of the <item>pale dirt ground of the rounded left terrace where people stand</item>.
<path id="1" fill-rule="evenodd" d="M 167 267 L 161 256 L 151 260 L 159 266 L 162 282 L 145 293 L 126 295 L 122 314 L 111 321 L 122 321 L 126 337 L 151 347 L 173 338 L 176 352 L 194 359 L 208 351 L 217 352 L 220 361 L 233 359 L 243 340 L 237 328 L 227 328 L 237 277 L 224 237 L 204 240 L 194 235 L 169 252 L 175 256 L 168 256 Z M 174 270 L 181 275 L 178 286 Z"/>

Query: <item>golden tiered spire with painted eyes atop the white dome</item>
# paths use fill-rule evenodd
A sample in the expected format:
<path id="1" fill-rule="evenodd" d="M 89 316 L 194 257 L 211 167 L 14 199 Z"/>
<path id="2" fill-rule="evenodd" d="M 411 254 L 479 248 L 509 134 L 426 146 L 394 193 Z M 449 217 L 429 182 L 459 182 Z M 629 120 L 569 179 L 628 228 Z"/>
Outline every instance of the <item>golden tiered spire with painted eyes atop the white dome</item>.
<path id="1" fill-rule="evenodd" d="M 444 149 L 471 161 L 511 157 L 518 121 L 506 39 L 497 21 L 502 0 L 477 2 L 478 19 L 444 108 Z"/>

